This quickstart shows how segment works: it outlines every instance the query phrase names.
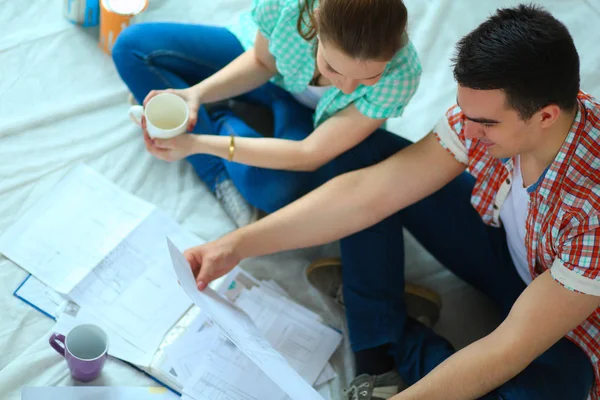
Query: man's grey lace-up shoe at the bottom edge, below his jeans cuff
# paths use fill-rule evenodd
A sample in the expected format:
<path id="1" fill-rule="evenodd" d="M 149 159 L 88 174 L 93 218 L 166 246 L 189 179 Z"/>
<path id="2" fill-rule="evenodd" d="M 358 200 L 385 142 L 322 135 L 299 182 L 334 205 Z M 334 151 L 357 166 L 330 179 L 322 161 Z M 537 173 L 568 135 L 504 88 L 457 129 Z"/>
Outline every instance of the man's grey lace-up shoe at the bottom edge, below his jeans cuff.
<path id="1" fill-rule="evenodd" d="M 396 371 L 383 375 L 362 374 L 354 378 L 344 395 L 348 400 L 387 400 L 400 393 L 404 383 Z"/>

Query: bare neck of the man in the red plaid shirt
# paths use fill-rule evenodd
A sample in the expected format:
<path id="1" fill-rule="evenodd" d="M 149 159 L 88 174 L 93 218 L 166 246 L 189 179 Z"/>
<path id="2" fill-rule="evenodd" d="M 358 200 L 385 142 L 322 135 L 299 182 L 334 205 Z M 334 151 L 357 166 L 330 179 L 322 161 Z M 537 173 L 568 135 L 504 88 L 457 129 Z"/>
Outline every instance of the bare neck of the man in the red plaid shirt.
<path id="1" fill-rule="evenodd" d="M 549 128 L 542 138 L 540 146 L 534 150 L 521 154 L 521 173 L 523 184 L 529 186 L 537 182 L 544 170 L 556 158 L 567 135 L 571 131 L 577 108 L 570 112 L 562 112 L 556 123 Z"/>

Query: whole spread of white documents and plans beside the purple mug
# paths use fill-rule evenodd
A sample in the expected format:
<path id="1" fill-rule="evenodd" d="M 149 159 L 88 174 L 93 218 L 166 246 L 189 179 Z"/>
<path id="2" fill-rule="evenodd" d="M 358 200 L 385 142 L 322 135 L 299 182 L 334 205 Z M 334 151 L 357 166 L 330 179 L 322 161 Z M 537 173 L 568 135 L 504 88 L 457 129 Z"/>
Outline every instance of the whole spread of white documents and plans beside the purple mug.
<path id="1" fill-rule="evenodd" d="M 201 242 L 80 165 L 4 232 L 0 252 L 33 275 L 15 295 L 56 316 L 57 333 L 101 326 L 109 354 L 184 398 L 321 399 L 313 386 L 335 377 L 341 335 L 237 267 L 200 292 L 181 250 Z"/>

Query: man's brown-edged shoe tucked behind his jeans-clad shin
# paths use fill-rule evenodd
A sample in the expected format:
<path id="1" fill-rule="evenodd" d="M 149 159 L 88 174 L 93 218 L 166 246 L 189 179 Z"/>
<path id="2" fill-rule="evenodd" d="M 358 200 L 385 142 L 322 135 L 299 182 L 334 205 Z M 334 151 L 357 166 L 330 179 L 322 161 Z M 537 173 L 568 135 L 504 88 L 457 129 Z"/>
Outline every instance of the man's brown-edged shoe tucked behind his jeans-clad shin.
<path id="1" fill-rule="evenodd" d="M 313 262 L 306 269 L 306 276 L 317 291 L 344 306 L 342 262 L 339 258 L 325 258 Z M 428 327 L 433 327 L 439 320 L 442 299 L 433 290 L 407 283 L 404 286 L 404 300 L 410 317 Z"/>

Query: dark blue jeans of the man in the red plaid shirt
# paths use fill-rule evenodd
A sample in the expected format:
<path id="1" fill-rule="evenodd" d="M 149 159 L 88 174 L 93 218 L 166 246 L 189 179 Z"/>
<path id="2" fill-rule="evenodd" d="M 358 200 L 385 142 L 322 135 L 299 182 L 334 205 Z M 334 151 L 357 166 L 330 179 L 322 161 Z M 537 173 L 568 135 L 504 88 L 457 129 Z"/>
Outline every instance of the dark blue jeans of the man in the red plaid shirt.
<path id="1" fill-rule="evenodd" d="M 409 144 L 405 141 L 403 146 Z M 424 377 L 454 349 L 406 314 L 403 227 L 442 265 L 488 296 L 502 316 L 508 315 L 526 287 L 512 262 L 504 229 L 484 224 L 471 206 L 474 183 L 465 172 L 431 196 L 342 240 L 344 258 L 353 260 L 343 264 L 353 350 L 391 343 L 400 375 L 408 384 Z M 583 400 L 593 381 L 586 354 L 563 338 L 483 398 Z"/>

